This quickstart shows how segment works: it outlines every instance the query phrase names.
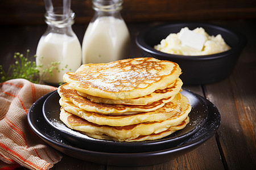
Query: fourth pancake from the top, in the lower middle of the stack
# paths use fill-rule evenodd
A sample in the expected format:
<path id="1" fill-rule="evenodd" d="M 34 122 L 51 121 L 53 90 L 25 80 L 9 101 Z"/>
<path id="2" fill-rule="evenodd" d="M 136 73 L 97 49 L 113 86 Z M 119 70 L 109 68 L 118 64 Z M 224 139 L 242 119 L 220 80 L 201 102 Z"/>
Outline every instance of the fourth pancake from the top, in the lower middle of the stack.
<path id="1" fill-rule="evenodd" d="M 153 122 L 153 121 L 163 121 L 174 116 L 176 112 L 180 111 L 180 105 L 187 104 L 188 101 L 183 98 L 181 100 L 181 94 L 177 94 L 174 100 L 166 103 L 162 108 L 156 109 L 151 112 L 142 112 L 130 115 L 102 115 L 95 112 L 88 112 L 76 107 L 75 104 L 65 100 L 60 99 L 60 105 L 65 111 L 75 114 L 89 122 L 97 125 L 109 125 L 109 126 L 127 126 L 139 124 L 142 122 Z"/>

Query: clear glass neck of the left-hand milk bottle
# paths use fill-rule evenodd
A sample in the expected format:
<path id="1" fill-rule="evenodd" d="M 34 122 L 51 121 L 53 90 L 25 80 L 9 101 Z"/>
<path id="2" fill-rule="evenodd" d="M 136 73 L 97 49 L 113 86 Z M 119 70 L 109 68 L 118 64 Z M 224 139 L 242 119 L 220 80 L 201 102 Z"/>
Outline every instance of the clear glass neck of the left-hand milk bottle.
<path id="1" fill-rule="evenodd" d="M 63 7 L 55 7 L 53 11 L 47 11 L 44 17 L 49 27 L 67 28 L 74 23 L 75 13 L 69 10 L 67 14 L 63 14 Z"/>

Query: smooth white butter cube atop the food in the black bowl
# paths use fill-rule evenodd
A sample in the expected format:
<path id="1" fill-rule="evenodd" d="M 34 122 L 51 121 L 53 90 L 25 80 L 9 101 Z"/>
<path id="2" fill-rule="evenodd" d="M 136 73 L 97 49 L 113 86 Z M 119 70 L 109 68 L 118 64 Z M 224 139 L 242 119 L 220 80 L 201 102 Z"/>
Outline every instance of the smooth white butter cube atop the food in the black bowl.
<path id="1" fill-rule="evenodd" d="M 180 31 L 179 40 L 182 45 L 187 45 L 197 50 L 202 50 L 204 42 L 207 38 L 200 33 L 193 32 L 189 29 L 182 29 Z"/>

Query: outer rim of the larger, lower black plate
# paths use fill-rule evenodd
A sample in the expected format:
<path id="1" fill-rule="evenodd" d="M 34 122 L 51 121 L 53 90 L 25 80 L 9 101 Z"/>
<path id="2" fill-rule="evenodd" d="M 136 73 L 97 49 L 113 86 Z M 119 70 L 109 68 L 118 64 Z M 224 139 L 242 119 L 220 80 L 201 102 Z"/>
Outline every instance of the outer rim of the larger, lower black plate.
<path id="1" fill-rule="evenodd" d="M 49 94 L 51 94 L 50 92 Z M 211 138 L 217 131 L 217 129 L 220 126 L 221 117 L 220 112 L 218 112 L 218 109 L 210 103 L 209 100 L 204 99 L 206 101 L 208 106 L 210 106 L 212 109 L 214 109 L 214 115 L 213 120 L 216 123 L 216 126 L 214 126 L 214 129 L 210 129 L 210 132 L 204 133 L 201 135 L 200 138 L 195 139 L 195 141 L 180 145 L 177 147 L 171 147 L 167 148 L 165 150 L 159 150 L 159 151 L 151 151 L 151 152 L 139 152 L 139 153 L 108 153 L 108 152 L 98 152 L 98 151 L 90 151 L 90 150 L 84 150 L 81 148 L 73 147 L 66 145 L 64 143 L 59 143 L 57 141 L 54 141 L 51 138 L 48 138 L 46 134 L 41 133 L 40 129 L 36 125 L 32 123 L 32 112 L 34 108 L 36 108 L 40 102 L 42 103 L 42 100 L 46 99 L 46 96 L 49 96 L 49 94 L 40 97 L 30 108 L 28 111 L 28 124 L 30 125 L 31 129 L 38 135 L 44 142 L 48 143 L 48 145 L 52 146 L 56 150 L 59 150 L 63 152 L 64 154 L 67 154 L 69 156 L 73 156 L 74 158 L 78 158 L 81 160 L 86 160 L 93 163 L 99 163 L 99 164 L 106 164 L 109 165 L 119 165 L 119 166 L 144 166 L 144 165 L 152 165 L 157 163 L 163 163 L 170 159 L 174 159 L 174 156 L 180 156 L 177 154 L 185 154 L 189 151 L 192 151 L 196 147 L 203 144 L 205 141 L 207 141 L 209 138 Z M 214 118 L 215 117 L 215 118 Z M 208 119 L 209 121 L 209 119 Z M 213 122 L 208 122 L 209 124 L 212 124 Z M 199 133 L 199 132 L 197 132 Z M 178 152 L 175 154 L 175 152 Z M 180 153 L 181 152 L 181 153 Z M 100 159 L 102 158 L 102 159 Z M 151 161 L 148 161 L 151 160 Z"/>

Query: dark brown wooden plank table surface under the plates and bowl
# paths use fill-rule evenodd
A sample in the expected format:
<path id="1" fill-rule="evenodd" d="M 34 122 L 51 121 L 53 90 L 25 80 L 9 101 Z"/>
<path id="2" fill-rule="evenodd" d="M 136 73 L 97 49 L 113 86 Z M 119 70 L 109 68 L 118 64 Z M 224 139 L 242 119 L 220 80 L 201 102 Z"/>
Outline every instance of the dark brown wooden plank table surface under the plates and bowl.
<path id="1" fill-rule="evenodd" d="M 254 169 L 256 167 L 256 20 L 217 20 L 210 23 L 237 29 L 247 37 L 247 45 L 229 78 L 204 86 L 183 86 L 210 100 L 221 113 L 217 133 L 195 150 L 169 162 L 147 167 L 113 167 L 85 162 L 64 155 L 52 169 Z M 133 42 L 131 57 L 142 56 L 135 36 L 159 23 L 129 23 Z M 80 42 L 87 24 L 73 25 Z M 0 65 L 6 69 L 14 52 L 35 54 L 46 25 L 2 26 Z M 23 169 L 23 168 L 20 168 Z"/>

